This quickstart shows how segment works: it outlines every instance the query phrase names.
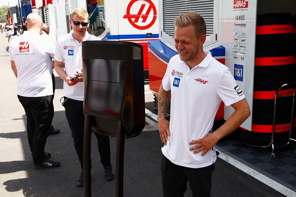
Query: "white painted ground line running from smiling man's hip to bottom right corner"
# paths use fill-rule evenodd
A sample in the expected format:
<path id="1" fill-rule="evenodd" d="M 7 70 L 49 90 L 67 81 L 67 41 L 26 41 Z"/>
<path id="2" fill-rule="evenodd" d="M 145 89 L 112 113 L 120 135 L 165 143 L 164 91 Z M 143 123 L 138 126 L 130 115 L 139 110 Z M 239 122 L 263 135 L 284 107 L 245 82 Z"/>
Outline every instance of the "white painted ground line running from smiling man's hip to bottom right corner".
<path id="1" fill-rule="evenodd" d="M 242 170 L 243 172 L 247 173 L 248 175 L 254 177 L 255 179 L 261 181 L 265 185 L 268 185 L 269 187 L 275 189 L 276 191 L 284 194 L 287 197 L 295 197 L 296 192 L 290 190 L 289 188 L 285 187 L 284 185 L 272 180 L 271 178 L 268 178 L 267 176 L 261 174 L 260 172 L 257 172 L 256 170 L 250 168 L 247 165 L 244 165 L 243 163 L 237 161 L 236 159 L 228 156 L 227 154 L 219 151 L 216 147 L 216 150 L 220 153 L 218 155 L 219 158 L 223 159 L 224 161 L 230 163 L 234 167 L 237 167 L 239 170 Z"/>

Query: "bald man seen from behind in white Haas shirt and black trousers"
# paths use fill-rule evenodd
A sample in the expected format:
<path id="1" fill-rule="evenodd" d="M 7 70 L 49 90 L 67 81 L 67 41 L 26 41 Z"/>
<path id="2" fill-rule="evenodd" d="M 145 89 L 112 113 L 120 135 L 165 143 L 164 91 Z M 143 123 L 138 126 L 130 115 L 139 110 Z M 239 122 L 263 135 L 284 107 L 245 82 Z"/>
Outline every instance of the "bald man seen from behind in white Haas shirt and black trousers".
<path id="1" fill-rule="evenodd" d="M 17 97 L 27 116 L 34 168 L 54 168 L 60 162 L 48 159 L 51 154 L 44 153 L 44 146 L 54 115 L 49 70 L 55 46 L 40 35 L 42 20 L 38 14 L 29 14 L 26 26 L 28 31 L 13 39 L 9 45 L 11 68 L 17 77 Z"/>

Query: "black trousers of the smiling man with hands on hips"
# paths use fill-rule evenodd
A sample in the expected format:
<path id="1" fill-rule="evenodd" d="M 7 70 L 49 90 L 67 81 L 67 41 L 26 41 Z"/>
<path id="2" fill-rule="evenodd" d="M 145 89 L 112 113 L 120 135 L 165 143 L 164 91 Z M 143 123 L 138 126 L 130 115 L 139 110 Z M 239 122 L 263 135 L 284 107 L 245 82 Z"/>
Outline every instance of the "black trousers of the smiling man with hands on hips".
<path id="1" fill-rule="evenodd" d="M 160 169 L 164 197 L 184 197 L 187 181 L 193 197 L 211 196 L 214 164 L 202 168 L 183 167 L 173 164 L 163 155 Z"/>

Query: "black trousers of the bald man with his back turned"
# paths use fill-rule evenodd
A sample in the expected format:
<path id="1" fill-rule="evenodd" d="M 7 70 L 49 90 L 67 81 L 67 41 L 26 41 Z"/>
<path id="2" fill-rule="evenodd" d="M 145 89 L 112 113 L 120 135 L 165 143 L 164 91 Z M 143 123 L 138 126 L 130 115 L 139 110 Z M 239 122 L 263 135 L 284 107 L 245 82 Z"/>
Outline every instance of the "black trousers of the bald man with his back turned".
<path id="1" fill-rule="evenodd" d="M 45 159 L 44 147 L 54 116 L 52 96 L 17 97 L 27 116 L 28 141 L 34 163 L 40 163 Z"/>

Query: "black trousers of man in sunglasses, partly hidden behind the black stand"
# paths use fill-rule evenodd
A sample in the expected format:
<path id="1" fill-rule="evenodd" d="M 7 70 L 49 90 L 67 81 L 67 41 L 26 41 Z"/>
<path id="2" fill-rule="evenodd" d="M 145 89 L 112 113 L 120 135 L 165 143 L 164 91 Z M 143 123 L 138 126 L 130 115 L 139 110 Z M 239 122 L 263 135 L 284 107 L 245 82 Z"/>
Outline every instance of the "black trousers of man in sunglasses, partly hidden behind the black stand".
<path id="1" fill-rule="evenodd" d="M 67 97 L 64 97 L 67 99 Z M 68 99 L 64 103 L 65 114 L 74 139 L 74 146 L 83 168 L 83 133 L 84 133 L 84 113 L 83 101 Z M 104 167 L 111 165 L 110 159 L 110 140 L 109 136 L 94 132 L 98 140 L 98 149 L 101 157 L 101 163 Z"/>

